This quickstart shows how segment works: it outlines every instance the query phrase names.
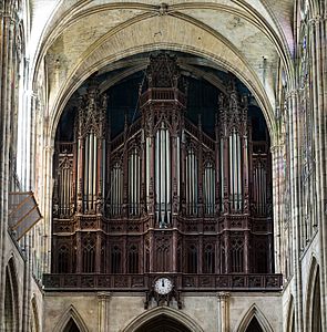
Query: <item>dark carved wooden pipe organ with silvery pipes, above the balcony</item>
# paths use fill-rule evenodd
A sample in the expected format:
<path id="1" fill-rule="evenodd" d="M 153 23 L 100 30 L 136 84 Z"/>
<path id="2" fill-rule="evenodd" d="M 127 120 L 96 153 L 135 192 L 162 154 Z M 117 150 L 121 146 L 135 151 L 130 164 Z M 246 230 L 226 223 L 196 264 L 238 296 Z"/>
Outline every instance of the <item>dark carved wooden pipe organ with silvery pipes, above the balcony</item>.
<path id="1" fill-rule="evenodd" d="M 113 136 L 91 81 L 73 138 L 55 143 L 52 272 L 273 272 L 268 142 L 252 138 L 235 79 L 217 100 L 210 135 L 177 59 L 151 56 L 140 116 Z"/>

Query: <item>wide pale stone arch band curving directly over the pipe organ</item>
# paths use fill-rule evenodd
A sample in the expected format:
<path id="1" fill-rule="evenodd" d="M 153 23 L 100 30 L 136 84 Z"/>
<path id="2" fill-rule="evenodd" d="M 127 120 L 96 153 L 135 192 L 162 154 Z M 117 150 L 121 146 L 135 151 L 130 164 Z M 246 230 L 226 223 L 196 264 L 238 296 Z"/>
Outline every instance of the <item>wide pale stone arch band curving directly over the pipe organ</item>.
<path id="1" fill-rule="evenodd" d="M 183 34 L 175 32 L 178 24 L 185 31 Z M 162 35 L 156 32 L 162 30 Z M 143 33 L 139 33 L 143 31 Z M 126 39 L 125 35 L 133 35 Z M 198 39 L 194 37 L 197 35 Z M 198 40 L 202 43 L 198 43 Z M 244 55 L 218 32 L 207 27 L 186 20 L 166 15 L 160 18 L 150 15 L 143 19 L 129 21 L 126 24 L 109 31 L 100 40 L 91 44 L 81 55 L 79 61 L 64 74 L 62 84 L 51 94 L 49 103 L 50 131 L 52 146 L 55 128 L 64 105 L 73 92 L 90 76 L 108 63 L 142 52 L 155 50 L 174 50 L 203 56 L 223 66 L 235 74 L 251 90 L 256 97 L 272 137 L 276 141 L 276 123 L 273 110 L 273 95 L 263 86 L 257 73 L 247 63 Z M 274 144 L 273 144 L 274 145 Z"/>

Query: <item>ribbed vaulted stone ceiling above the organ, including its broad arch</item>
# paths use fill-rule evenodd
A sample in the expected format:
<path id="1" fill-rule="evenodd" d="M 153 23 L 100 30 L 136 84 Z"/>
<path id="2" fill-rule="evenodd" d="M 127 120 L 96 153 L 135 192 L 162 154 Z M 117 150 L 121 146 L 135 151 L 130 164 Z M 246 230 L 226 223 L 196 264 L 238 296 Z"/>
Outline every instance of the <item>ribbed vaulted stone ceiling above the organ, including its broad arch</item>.
<path id="1" fill-rule="evenodd" d="M 132 73 L 145 65 L 144 60 L 133 62 L 130 56 L 123 63 L 124 58 L 166 49 L 196 55 L 197 62 L 236 74 L 256 96 L 273 129 L 280 63 L 292 76 L 294 1 L 161 2 L 31 1 L 31 39 L 39 34 L 40 41 L 34 50 L 35 71 L 44 59 L 53 124 L 62 105 L 90 74 L 110 72 L 116 63 Z"/>

